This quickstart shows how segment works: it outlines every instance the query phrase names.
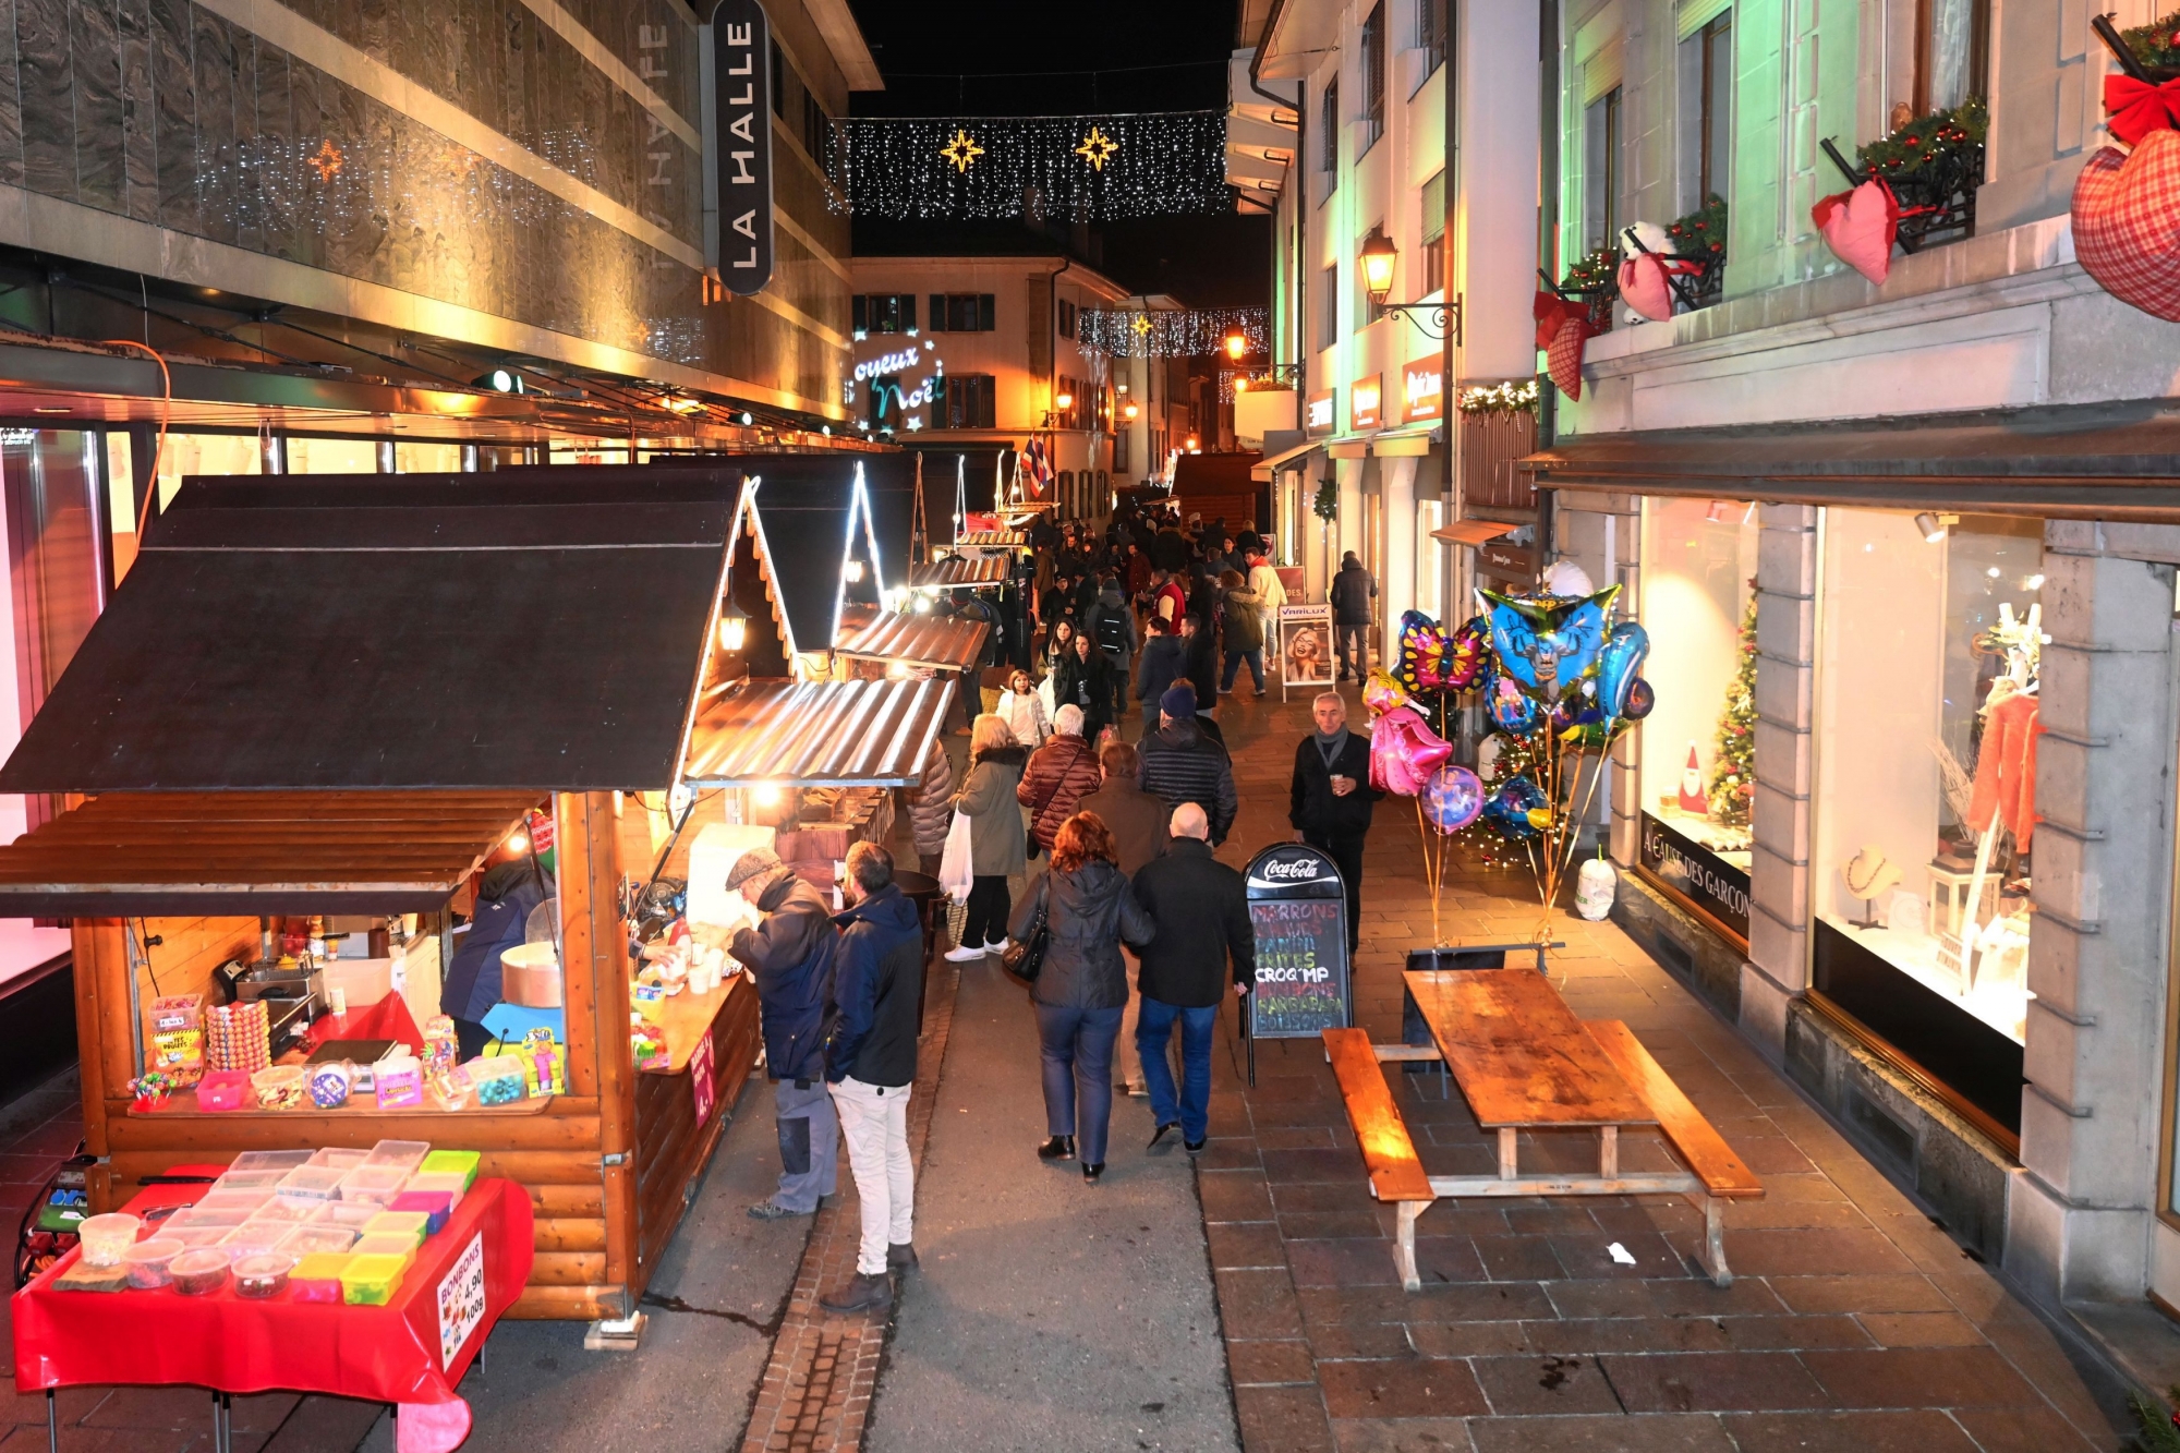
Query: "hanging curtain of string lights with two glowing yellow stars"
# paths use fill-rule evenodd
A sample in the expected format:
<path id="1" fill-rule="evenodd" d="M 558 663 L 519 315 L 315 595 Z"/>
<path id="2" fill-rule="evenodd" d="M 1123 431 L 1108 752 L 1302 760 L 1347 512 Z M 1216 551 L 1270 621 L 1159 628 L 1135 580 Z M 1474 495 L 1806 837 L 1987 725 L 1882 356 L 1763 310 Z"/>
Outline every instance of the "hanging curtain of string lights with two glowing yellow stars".
<path id="1" fill-rule="evenodd" d="M 1223 111 L 850 116 L 826 140 L 835 212 L 1110 223 L 1227 212 Z"/>

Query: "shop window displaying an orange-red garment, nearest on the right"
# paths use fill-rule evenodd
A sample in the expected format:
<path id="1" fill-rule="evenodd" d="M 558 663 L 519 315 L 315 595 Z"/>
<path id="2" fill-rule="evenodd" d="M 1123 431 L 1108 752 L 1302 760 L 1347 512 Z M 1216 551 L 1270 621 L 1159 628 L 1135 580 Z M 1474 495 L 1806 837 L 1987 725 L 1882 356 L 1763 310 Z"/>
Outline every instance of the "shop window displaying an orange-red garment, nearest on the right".
<path id="1" fill-rule="evenodd" d="M 1825 513 L 1812 984 L 2001 1137 L 2021 1126 L 2040 589 L 2043 521 Z"/>

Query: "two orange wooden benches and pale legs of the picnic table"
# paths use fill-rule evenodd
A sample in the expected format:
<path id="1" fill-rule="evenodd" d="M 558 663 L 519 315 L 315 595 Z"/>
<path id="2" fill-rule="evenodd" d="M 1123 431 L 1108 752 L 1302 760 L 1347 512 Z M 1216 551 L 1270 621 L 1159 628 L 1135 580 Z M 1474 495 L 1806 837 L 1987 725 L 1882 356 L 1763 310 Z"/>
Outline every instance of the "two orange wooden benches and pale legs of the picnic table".
<path id="1" fill-rule="evenodd" d="M 1362 1165 L 1369 1172 L 1371 1196 L 1400 1206 L 1400 1233 L 1393 1259 L 1400 1265 L 1400 1283 L 1408 1292 L 1421 1289 L 1415 1270 L 1415 1222 L 1441 1196 L 1448 1198 L 1509 1198 L 1509 1196 L 1687 1196 L 1703 1211 L 1703 1270 L 1720 1287 L 1733 1285 L 1727 1268 L 1722 1209 L 1727 1200 L 1755 1200 L 1764 1196 L 1757 1180 L 1733 1148 L 1711 1128 L 1703 1113 L 1690 1104 L 1681 1086 L 1659 1067 L 1650 1052 L 1618 1019 L 1594 1019 L 1585 1028 L 1628 1089 L 1644 1102 L 1657 1119 L 1659 1134 L 1670 1152 L 1687 1167 L 1670 1174 L 1620 1174 L 1618 1137 L 1611 1128 L 1602 1134 L 1602 1165 L 1596 1176 L 1522 1176 L 1509 1156 L 1506 1130 L 1500 1132 L 1498 1176 L 1428 1176 L 1415 1154 L 1408 1124 L 1393 1102 L 1380 1060 L 1424 1058 L 1415 1045 L 1371 1045 L 1362 1030 L 1325 1030 L 1325 1058 L 1341 1086 L 1341 1102 L 1347 1108 L 1347 1124 L 1354 1126 L 1356 1143 L 1362 1150 Z"/>

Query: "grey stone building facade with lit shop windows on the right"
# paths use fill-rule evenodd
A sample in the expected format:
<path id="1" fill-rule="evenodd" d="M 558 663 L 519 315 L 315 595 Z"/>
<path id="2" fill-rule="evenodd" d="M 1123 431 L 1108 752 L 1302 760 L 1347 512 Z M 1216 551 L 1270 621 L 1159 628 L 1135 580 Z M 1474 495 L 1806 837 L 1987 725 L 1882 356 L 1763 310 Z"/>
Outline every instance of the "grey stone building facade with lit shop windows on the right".
<path id="1" fill-rule="evenodd" d="M 2163 1388 L 2180 329 L 2075 264 L 2112 61 L 2082 7 L 2010 0 L 1543 15 L 1550 277 L 1578 295 L 1631 225 L 1727 242 L 1672 316 L 1609 303 L 1530 460 L 1552 550 L 1655 641 L 1615 912 Z M 1925 144 L 1892 185 L 1929 209 L 1870 281 L 1818 207 Z"/>

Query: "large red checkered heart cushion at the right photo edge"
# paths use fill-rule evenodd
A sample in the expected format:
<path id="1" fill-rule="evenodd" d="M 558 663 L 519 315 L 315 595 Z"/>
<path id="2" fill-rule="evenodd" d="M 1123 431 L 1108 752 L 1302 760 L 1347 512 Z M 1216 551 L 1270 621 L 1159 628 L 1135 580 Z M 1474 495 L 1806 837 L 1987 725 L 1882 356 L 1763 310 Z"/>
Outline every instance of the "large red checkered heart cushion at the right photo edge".
<path id="1" fill-rule="evenodd" d="M 2180 323 L 2180 131 L 2088 159 L 2073 183 L 2073 255 L 2121 303 Z"/>

